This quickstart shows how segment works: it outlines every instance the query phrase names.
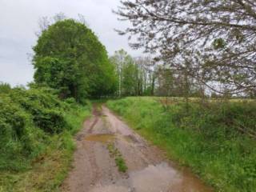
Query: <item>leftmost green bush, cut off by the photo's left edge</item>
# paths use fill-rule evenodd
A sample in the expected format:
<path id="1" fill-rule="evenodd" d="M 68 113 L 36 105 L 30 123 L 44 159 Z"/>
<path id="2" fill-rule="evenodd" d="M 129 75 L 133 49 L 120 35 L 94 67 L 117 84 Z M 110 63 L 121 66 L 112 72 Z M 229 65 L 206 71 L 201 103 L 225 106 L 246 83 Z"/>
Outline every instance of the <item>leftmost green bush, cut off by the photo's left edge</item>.
<path id="1" fill-rule="evenodd" d="M 40 145 L 39 135 L 30 114 L 10 98 L 0 98 L 0 170 L 26 167 L 26 157 Z"/>

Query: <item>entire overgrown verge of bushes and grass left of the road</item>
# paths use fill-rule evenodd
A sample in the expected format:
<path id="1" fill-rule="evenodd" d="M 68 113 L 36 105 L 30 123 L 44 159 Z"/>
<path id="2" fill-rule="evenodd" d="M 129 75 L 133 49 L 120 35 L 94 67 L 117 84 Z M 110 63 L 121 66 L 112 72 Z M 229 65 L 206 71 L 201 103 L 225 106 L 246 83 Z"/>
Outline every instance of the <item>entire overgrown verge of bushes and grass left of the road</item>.
<path id="1" fill-rule="evenodd" d="M 90 103 L 62 102 L 49 90 L 0 94 L 0 191 L 58 191 Z"/>

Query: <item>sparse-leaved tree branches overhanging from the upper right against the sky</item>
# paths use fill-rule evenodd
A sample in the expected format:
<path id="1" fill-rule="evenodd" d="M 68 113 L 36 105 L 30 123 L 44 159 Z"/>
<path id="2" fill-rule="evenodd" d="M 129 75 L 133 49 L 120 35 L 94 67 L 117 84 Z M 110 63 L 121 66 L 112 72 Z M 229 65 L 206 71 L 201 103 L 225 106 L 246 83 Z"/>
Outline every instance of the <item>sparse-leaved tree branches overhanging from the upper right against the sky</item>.
<path id="1" fill-rule="evenodd" d="M 184 70 L 211 90 L 234 94 L 256 89 L 254 0 L 123 0 L 115 12 L 132 25 L 119 34 L 136 37 L 155 59 Z"/>

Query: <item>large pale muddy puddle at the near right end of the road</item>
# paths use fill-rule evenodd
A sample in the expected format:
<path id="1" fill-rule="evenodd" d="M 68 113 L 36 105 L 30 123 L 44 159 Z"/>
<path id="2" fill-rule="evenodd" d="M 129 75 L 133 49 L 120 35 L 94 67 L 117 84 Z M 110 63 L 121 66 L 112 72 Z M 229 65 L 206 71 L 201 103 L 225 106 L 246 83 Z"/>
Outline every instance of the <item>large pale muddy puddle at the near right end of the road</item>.
<path id="1" fill-rule="evenodd" d="M 135 191 L 139 192 L 212 192 L 198 178 L 178 173 L 167 163 L 132 172 L 130 179 Z"/>

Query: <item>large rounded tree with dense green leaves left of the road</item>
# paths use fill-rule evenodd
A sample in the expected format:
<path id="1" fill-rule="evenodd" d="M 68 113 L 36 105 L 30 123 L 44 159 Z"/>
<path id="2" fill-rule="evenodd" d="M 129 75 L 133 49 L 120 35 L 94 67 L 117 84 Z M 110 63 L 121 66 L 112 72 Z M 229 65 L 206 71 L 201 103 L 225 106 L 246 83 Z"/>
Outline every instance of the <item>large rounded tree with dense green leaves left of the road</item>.
<path id="1" fill-rule="evenodd" d="M 116 89 L 114 66 L 106 48 L 83 23 L 60 19 L 42 30 L 34 46 L 34 80 L 59 91 L 61 98 L 113 94 Z"/>

